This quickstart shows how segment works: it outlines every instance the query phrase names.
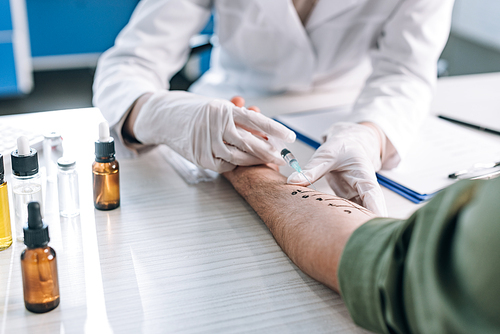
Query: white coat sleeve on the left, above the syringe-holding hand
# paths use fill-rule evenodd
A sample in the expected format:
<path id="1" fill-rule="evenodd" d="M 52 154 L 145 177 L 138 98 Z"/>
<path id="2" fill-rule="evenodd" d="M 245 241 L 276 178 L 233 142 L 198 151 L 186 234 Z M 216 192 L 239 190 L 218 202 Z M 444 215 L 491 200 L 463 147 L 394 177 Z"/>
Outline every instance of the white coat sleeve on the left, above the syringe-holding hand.
<path id="1" fill-rule="evenodd" d="M 115 45 L 99 59 L 93 104 L 116 125 L 142 94 L 168 89 L 189 40 L 210 18 L 211 0 L 143 0 Z"/>

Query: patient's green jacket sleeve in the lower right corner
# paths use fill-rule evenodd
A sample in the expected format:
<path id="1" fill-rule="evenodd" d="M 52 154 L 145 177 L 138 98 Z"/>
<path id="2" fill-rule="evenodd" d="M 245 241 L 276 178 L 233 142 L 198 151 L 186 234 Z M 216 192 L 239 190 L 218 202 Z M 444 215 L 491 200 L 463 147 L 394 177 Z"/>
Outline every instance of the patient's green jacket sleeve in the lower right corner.
<path id="1" fill-rule="evenodd" d="M 366 329 L 500 333 L 500 178 L 458 182 L 407 220 L 362 225 L 338 276 Z"/>

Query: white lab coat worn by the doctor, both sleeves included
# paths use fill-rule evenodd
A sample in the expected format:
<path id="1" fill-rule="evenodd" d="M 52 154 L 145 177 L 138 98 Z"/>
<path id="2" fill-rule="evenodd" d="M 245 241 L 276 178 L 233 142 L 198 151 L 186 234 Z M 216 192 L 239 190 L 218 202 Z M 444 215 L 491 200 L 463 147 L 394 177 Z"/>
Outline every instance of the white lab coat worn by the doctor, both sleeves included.
<path id="1" fill-rule="evenodd" d="M 191 91 L 214 97 L 362 87 L 350 120 L 404 155 L 427 114 L 453 0 L 319 0 L 304 27 L 291 0 L 143 0 L 99 60 L 94 104 L 119 124 L 168 89 L 215 10 L 219 45 Z"/>

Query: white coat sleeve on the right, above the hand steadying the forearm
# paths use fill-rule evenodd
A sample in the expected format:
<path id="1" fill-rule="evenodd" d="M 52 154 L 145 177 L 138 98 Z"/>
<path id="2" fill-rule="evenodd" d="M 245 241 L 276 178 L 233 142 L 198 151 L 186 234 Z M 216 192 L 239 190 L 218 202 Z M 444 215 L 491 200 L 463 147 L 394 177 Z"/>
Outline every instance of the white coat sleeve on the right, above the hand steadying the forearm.
<path id="1" fill-rule="evenodd" d="M 400 0 L 371 53 L 373 72 L 350 121 L 377 124 L 396 149 L 394 167 L 428 113 L 437 61 L 448 39 L 454 0 Z"/>

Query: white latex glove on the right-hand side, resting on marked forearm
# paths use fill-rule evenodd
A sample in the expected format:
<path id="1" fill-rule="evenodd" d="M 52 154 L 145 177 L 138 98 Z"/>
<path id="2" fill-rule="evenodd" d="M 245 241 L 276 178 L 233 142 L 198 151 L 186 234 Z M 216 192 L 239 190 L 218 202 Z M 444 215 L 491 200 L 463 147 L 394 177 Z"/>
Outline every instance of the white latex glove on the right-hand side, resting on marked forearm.
<path id="1" fill-rule="evenodd" d="M 380 139 L 376 130 L 362 124 L 336 123 L 328 129 L 326 141 L 302 170 L 311 182 L 326 175 L 337 196 L 387 216 L 384 195 L 375 176 L 380 167 Z M 309 185 L 297 172 L 288 177 L 288 183 Z"/>

